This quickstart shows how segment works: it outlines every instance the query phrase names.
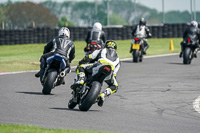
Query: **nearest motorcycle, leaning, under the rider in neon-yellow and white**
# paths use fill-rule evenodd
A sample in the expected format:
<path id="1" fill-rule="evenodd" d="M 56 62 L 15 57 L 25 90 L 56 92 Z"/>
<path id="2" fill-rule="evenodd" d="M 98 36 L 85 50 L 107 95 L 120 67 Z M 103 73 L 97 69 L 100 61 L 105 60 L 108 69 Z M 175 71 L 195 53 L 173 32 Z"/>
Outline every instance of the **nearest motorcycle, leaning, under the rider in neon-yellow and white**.
<path id="1" fill-rule="evenodd" d="M 93 104 L 98 102 L 103 81 L 111 75 L 112 68 L 110 65 L 99 65 L 93 68 L 93 74 L 86 76 L 84 85 L 78 90 L 72 91 L 68 108 L 73 109 L 78 104 L 79 110 L 88 111 Z"/>

